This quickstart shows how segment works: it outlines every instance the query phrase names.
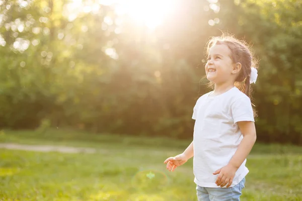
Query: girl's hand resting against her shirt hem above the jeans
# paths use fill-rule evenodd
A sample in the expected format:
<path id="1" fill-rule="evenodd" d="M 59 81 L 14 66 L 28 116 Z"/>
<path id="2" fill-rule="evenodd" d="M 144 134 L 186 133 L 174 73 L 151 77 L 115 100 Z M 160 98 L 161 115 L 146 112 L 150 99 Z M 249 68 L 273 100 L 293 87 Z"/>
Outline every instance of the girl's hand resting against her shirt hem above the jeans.
<path id="1" fill-rule="evenodd" d="M 226 185 L 226 187 L 227 188 L 230 187 L 233 183 L 233 178 L 235 176 L 237 169 L 238 168 L 236 168 L 235 166 L 228 164 L 216 170 L 213 174 L 214 175 L 219 174 L 215 182 L 217 186 L 223 187 L 226 184 L 228 184 Z"/>

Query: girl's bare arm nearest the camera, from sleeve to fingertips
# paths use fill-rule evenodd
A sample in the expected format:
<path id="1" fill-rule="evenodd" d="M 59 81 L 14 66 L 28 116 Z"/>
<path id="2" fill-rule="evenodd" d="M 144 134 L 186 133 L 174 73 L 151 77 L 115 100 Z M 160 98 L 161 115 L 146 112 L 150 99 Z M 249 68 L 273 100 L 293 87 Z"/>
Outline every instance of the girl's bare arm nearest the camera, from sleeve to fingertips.
<path id="1" fill-rule="evenodd" d="M 219 174 L 216 179 L 217 186 L 230 187 L 236 171 L 247 158 L 256 142 L 256 129 L 254 122 L 238 122 L 243 139 L 229 164 L 216 170 L 213 174 Z"/>

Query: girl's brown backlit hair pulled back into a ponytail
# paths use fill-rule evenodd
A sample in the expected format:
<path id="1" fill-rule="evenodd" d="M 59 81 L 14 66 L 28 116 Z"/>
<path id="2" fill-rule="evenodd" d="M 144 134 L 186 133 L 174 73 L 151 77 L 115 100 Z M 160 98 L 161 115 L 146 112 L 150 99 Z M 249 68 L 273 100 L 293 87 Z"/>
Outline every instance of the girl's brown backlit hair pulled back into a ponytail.
<path id="1" fill-rule="evenodd" d="M 206 53 L 209 54 L 209 50 L 213 45 L 226 45 L 231 51 L 231 59 L 234 63 L 241 63 L 241 70 L 238 77 L 235 80 L 235 86 L 237 86 L 242 92 L 249 96 L 252 100 L 252 89 L 250 86 L 250 74 L 251 68 L 257 68 L 256 60 L 253 53 L 250 51 L 249 45 L 242 40 L 236 39 L 234 36 L 225 35 L 219 37 L 212 37 L 207 43 Z M 253 105 L 254 106 L 254 105 Z"/>

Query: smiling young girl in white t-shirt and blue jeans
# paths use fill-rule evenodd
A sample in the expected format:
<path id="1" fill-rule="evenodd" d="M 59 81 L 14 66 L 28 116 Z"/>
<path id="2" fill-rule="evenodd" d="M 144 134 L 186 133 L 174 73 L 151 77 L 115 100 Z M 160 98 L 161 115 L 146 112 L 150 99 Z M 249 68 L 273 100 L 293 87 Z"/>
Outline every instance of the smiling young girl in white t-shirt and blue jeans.
<path id="1" fill-rule="evenodd" d="M 164 163 L 174 171 L 194 156 L 199 201 L 240 200 L 249 172 L 246 158 L 256 141 L 250 84 L 257 70 L 248 46 L 233 37 L 212 38 L 207 54 L 205 73 L 214 90 L 199 97 L 193 109 L 193 142 Z"/>

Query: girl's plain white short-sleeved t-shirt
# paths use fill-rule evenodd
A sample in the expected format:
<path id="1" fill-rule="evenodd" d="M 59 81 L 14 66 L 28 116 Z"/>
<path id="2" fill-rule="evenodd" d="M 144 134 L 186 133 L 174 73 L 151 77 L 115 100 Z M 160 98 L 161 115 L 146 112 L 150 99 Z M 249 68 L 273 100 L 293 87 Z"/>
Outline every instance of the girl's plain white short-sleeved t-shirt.
<path id="1" fill-rule="evenodd" d="M 211 91 L 212 92 L 212 91 Z M 217 169 L 227 165 L 243 139 L 237 122 L 254 122 L 250 98 L 237 87 L 216 95 L 206 93 L 198 98 L 193 110 L 194 182 L 203 187 L 215 184 Z M 233 183 L 238 184 L 249 172 L 246 159 L 237 170 Z"/>

